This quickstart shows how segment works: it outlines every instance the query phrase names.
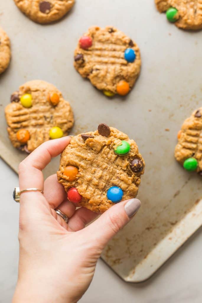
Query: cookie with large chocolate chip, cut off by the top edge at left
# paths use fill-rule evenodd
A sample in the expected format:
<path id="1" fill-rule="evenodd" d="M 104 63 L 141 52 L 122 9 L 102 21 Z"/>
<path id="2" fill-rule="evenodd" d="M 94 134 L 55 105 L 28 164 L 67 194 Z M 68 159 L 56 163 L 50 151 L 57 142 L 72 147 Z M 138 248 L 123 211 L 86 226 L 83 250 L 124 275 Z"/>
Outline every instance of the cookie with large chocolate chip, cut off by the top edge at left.
<path id="1" fill-rule="evenodd" d="M 31 20 L 44 24 L 61 19 L 72 8 L 74 0 L 14 0 Z"/>

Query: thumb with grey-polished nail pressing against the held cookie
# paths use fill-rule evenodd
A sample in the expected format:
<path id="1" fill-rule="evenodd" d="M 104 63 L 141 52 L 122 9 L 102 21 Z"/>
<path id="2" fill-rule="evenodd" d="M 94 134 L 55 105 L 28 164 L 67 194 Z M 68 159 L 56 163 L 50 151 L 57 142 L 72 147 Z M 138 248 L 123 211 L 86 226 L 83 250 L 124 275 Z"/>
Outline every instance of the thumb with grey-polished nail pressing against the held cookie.
<path id="1" fill-rule="evenodd" d="M 88 238 L 103 249 L 107 242 L 130 221 L 140 206 L 141 202 L 138 199 L 117 203 L 85 228 L 89 234 Z"/>

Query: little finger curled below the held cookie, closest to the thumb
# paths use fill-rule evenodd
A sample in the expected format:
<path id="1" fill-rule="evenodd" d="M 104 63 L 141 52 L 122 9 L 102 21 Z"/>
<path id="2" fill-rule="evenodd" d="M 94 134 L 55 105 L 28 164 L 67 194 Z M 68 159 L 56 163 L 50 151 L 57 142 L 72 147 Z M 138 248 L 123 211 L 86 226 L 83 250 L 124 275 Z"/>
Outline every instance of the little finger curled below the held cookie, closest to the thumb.
<path id="1" fill-rule="evenodd" d="M 86 224 L 93 221 L 95 218 L 97 218 L 98 214 L 95 212 L 81 207 L 77 209 L 74 213 L 74 215 L 69 219 L 68 225 L 73 231 L 78 231 L 80 229 L 83 229 Z"/>

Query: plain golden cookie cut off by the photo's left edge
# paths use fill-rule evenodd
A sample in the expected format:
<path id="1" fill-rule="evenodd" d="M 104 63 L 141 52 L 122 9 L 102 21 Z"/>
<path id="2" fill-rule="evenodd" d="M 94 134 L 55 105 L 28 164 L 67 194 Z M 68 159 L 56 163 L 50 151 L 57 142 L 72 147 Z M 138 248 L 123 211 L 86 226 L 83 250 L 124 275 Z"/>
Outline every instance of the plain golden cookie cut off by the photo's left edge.
<path id="1" fill-rule="evenodd" d="M 10 40 L 0 27 L 0 74 L 5 71 L 11 60 Z"/>

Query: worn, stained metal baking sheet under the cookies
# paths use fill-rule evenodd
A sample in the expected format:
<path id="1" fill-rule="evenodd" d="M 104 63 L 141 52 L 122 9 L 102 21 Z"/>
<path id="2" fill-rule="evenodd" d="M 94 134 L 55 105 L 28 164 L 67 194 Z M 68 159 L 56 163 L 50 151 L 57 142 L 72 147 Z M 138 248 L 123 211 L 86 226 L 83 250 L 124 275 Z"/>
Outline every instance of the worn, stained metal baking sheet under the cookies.
<path id="1" fill-rule="evenodd" d="M 75 113 L 71 134 L 106 123 L 135 139 L 145 158 L 135 218 L 106 247 L 102 258 L 125 281 L 143 281 L 202 223 L 201 178 L 174 160 L 176 135 L 185 118 L 201 106 L 202 31 L 184 32 L 166 21 L 149 0 L 77 0 L 61 21 L 38 25 L 13 1 L 1 1 L 0 25 L 11 38 L 12 61 L 0 76 L 0 154 L 17 171 L 24 154 L 9 142 L 4 107 L 26 81 L 53 83 Z M 91 25 L 112 25 L 133 38 L 142 55 L 132 92 L 106 98 L 73 68 L 77 40 Z M 57 171 L 59 157 L 44 175 Z"/>

